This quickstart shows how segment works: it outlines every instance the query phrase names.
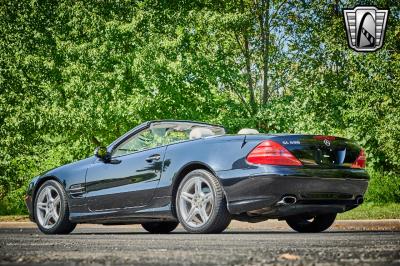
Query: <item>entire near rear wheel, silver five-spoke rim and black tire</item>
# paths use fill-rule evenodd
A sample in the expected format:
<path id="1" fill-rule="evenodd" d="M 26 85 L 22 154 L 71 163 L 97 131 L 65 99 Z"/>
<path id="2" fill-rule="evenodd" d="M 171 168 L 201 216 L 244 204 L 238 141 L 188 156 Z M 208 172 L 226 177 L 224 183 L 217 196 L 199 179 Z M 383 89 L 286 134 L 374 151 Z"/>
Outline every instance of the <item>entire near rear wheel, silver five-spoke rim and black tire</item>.
<path id="1" fill-rule="evenodd" d="M 185 176 L 175 206 L 180 223 L 190 233 L 220 233 L 231 221 L 222 187 L 206 170 L 194 170 Z"/>

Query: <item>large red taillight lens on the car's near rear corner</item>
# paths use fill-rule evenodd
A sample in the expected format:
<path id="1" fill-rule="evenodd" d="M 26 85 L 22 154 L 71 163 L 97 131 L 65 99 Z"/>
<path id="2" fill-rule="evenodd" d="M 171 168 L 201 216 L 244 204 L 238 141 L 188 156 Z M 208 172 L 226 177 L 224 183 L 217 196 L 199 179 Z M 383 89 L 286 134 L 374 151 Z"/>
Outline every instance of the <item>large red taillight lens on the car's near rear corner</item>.
<path id="1" fill-rule="evenodd" d="M 247 155 L 246 159 L 252 164 L 302 165 L 290 151 L 272 140 L 261 142 Z"/>

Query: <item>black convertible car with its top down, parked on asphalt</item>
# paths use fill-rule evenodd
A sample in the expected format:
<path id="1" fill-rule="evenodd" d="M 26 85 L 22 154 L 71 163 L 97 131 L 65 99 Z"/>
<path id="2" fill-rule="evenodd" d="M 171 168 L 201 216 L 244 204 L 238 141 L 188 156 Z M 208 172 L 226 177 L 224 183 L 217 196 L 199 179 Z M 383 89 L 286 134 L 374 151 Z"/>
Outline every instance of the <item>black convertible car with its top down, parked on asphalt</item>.
<path id="1" fill-rule="evenodd" d="M 231 219 L 321 232 L 363 202 L 364 151 L 333 136 L 259 134 L 191 121 L 143 123 L 87 159 L 32 180 L 30 218 L 46 234 L 77 223 L 222 232 Z"/>

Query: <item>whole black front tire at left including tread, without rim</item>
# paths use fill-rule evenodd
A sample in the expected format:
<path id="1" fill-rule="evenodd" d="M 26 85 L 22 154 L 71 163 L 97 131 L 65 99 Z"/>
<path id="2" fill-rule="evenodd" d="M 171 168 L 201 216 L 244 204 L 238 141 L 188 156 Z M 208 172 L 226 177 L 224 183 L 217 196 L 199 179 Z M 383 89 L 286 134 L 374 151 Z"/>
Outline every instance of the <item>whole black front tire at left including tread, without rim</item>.
<path id="1" fill-rule="evenodd" d="M 41 191 L 49 186 L 56 189 L 58 195 L 60 195 L 60 214 L 58 221 L 54 223 L 53 227 L 45 228 L 39 222 L 36 206 L 38 204 L 38 196 L 40 195 Z M 42 231 L 45 234 L 69 234 L 76 227 L 76 223 L 72 223 L 69 220 L 69 206 L 68 206 L 67 194 L 65 193 L 64 188 L 57 181 L 48 180 L 42 184 L 42 186 L 36 193 L 33 210 L 34 210 L 33 212 L 36 224 L 38 225 L 40 231 Z"/>

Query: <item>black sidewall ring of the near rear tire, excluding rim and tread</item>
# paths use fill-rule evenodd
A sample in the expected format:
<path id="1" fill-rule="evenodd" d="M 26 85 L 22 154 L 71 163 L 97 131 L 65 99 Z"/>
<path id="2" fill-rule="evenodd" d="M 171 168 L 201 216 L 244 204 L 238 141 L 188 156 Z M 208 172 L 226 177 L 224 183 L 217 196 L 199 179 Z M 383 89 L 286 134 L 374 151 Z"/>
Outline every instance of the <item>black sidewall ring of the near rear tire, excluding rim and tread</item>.
<path id="1" fill-rule="evenodd" d="M 182 188 L 184 187 L 184 185 L 191 179 L 194 177 L 200 176 L 202 178 L 204 178 L 205 180 L 207 180 L 207 182 L 210 184 L 211 186 L 211 191 L 213 193 L 214 196 L 214 202 L 213 202 L 213 208 L 211 211 L 211 216 L 208 219 L 208 221 L 200 226 L 200 227 L 191 227 L 190 225 L 186 224 L 186 222 L 184 221 L 182 215 L 181 215 L 181 210 L 180 210 L 180 204 L 179 204 L 179 198 L 180 198 L 180 194 L 182 191 Z M 218 216 L 218 212 L 217 210 L 219 209 L 220 204 L 222 203 L 222 198 L 223 195 L 218 195 L 217 191 L 216 191 L 216 187 L 215 187 L 215 182 L 218 182 L 218 180 L 209 172 L 205 171 L 205 170 L 194 170 L 192 172 L 190 172 L 189 174 L 187 174 L 182 182 L 179 184 L 179 188 L 176 194 L 176 199 L 175 199 L 175 206 L 176 206 L 176 214 L 178 216 L 178 220 L 180 221 L 181 225 L 188 231 L 190 232 L 204 232 L 206 231 L 215 221 L 215 219 L 217 219 Z"/>

